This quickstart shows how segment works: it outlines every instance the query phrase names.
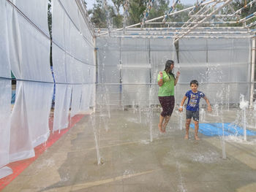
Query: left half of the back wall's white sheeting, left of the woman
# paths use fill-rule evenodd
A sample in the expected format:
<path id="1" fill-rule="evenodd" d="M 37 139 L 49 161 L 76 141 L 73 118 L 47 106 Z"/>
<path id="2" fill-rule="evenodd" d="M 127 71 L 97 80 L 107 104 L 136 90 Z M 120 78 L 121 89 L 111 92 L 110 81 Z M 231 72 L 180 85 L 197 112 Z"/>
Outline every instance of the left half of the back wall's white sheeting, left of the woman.
<path id="1" fill-rule="evenodd" d="M 152 85 L 156 88 L 151 89 L 151 96 L 149 88 L 157 83 L 157 74 L 165 69 L 165 62 L 176 61 L 173 39 L 99 37 L 97 48 L 98 82 L 121 82 L 121 85 L 106 85 L 107 88 L 98 86 L 99 104 L 106 102 L 102 100 L 106 89 L 111 104 L 147 106 L 149 97 L 158 101 L 157 86 Z"/>

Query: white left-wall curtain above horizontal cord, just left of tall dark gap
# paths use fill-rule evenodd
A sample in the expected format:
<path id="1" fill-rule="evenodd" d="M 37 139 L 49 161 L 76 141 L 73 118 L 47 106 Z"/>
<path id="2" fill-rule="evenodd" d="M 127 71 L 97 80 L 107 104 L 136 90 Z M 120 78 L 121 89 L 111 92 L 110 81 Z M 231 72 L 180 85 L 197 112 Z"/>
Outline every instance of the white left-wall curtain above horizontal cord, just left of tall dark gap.
<path id="1" fill-rule="evenodd" d="M 11 4 L 7 4 L 12 72 L 19 80 L 53 82 L 50 71 L 50 39 L 47 23 L 48 1 L 26 1 L 14 1 L 14 4 L 26 16 L 21 15 Z M 25 17 L 29 18 L 32 23 Z"/>

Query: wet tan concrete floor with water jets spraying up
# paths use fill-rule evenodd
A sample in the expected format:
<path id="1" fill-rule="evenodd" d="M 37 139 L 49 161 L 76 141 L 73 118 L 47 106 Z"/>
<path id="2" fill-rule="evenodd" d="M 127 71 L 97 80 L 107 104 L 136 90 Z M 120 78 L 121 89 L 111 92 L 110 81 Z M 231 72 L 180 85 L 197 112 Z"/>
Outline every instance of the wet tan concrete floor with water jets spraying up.
<path id="1" fill-rule="evenodd" d="M 256 191 L 256 137 L 196 141 L 191 128 L 185 140 L 178 112 L 165 134 L 158 120 L 159 110 L 131 108 L 86 115 L 3 191 Z"/>

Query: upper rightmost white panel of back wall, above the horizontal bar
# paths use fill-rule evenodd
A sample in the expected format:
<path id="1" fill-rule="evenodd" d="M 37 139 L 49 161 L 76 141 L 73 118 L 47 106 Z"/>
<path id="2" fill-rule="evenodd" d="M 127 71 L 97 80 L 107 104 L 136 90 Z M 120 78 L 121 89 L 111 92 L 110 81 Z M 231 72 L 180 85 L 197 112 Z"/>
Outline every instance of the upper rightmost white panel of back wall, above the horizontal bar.
<path id="1" fill-rule="evenodd" d="M 208 39 L 208 47 L 210 82 L 249 81 L 249 39 Z"/>

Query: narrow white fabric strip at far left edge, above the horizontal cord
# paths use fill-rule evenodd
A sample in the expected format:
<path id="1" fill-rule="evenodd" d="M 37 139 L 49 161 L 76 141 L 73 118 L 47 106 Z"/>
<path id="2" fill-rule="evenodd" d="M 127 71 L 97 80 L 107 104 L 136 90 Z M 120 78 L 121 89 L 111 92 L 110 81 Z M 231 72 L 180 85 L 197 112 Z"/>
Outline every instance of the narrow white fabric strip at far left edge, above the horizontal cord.
<path id="1" fill-rule="evenodd" d="M 7 33 L 7 2 L 0 1 L 0 77 L 11 77 Z"/>

